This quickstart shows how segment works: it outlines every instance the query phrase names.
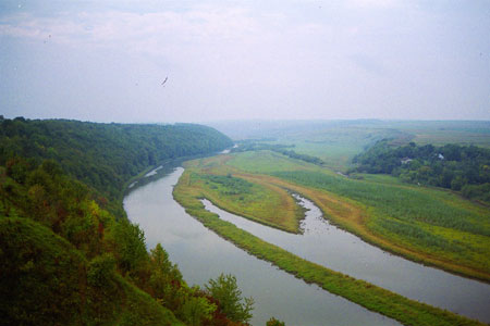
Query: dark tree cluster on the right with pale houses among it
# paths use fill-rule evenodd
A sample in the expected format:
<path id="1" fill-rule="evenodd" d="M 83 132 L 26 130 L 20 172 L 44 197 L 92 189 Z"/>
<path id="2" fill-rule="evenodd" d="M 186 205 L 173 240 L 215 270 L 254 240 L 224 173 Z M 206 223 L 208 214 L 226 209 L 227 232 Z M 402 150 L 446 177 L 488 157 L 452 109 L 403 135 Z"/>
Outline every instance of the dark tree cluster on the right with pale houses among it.
<path id="1" fill-rule="evenodd" d="M 391 174 L 407 183 L 449 188 L 490 202 L 490 149 L 414 142 L 393 147 L 390 140 L 382 140 L 353 162 L 357 172 Z"/>

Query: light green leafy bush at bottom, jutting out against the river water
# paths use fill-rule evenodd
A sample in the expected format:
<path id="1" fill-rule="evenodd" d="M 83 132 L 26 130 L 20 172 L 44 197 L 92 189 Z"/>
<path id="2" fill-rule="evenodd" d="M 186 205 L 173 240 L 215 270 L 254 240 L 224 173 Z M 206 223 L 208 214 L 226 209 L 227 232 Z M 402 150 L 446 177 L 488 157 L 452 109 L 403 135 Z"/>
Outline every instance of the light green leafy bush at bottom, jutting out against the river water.
<path id="1" fill-rule="evenodd" d="M 206 285 L 209 294 L 218 300 L 220 310 L 233 322 L 248 322 L 252 318 L 254 300 L 242 298 L 242 291 L 236 285 L 236 277 L 221 274 L 217 279 L 210 279 Z M 242 302 L 244 301 L 244 302 Z"/>

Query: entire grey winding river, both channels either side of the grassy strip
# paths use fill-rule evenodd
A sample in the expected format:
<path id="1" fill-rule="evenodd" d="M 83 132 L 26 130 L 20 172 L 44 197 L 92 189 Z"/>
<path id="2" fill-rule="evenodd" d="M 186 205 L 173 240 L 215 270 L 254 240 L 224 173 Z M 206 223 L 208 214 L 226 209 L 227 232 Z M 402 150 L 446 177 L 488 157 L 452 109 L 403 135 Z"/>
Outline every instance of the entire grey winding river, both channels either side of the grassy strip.
<path id="1" fill-rule="evenodd" d="M 256 259 L 205 228 L 172 198 L 183 168 L 132 191 L 124 199 L 130 220 L 145 230 L 149 248 L 162 243 L 189 285 L 204 285 L 220 273 L 237 277 L 245 297 L 255 300 L 253 325 L 270 316 L 286 325 L 397 325 L 341 297 Z M 304 235 L 292 235 L 224 212 L 204 201 L 221 218 L 302 258 L 368 280 L 405 297 L 490 322 L 490 286 L 426 267 L 387 253 L 326 222 L 313 202 L 297 197 L 308 209 Z"/>

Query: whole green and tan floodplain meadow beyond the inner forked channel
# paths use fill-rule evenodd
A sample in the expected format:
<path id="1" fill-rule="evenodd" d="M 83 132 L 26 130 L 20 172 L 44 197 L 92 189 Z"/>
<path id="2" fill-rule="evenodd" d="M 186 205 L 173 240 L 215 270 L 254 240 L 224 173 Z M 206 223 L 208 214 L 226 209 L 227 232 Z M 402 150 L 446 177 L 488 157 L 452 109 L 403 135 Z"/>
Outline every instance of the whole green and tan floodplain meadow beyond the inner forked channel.
<path id="1" fill-rule="evenodd" d="M 220 155 L 188 166 L 199 175 L 193 178 L 201 180 L 201 196 L 235 214 L 297 231 L 298 210 L 286 200 L 290 196 L 284 189 L 289 189 L 313 200 L 331 222 L 378 247 L 490 280 L 490 210 L 450 191 L 406 185 L 382 175 L 350 179 L 270 151 Z M 207 174 L 229 174 L 254 191 L 225 195 L 236 188 L 206 184 Z"/>

